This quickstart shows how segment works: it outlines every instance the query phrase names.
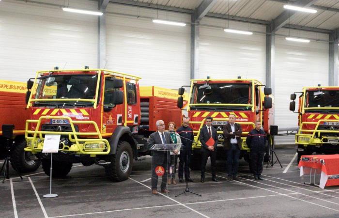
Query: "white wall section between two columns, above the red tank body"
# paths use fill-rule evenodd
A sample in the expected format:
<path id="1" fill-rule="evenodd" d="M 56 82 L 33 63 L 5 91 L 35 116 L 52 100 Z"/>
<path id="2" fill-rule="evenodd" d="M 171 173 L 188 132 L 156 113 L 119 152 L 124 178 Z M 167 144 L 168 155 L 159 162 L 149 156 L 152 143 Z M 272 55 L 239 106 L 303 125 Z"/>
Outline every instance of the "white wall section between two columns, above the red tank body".
<path id="1" fill-rule="evenodd" d="M 106 16 L 106 68 L 136 74 L 142 77 L 141 85 L 177 89 L 189 84 L 190 26 L 156 24 L 137 16 L 185 22 L 190 16 L 116 4 L 107 10 L 135 16 Z"/>

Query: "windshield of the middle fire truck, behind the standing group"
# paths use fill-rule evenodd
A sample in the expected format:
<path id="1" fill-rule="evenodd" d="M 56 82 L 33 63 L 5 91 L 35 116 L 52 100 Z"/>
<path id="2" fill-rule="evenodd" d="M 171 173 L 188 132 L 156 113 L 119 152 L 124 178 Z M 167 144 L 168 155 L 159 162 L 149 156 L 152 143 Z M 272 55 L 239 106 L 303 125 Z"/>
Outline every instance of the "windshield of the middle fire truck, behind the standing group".
<path id="1" fill-rule="evenodd" d="M 193 104 L 252 104 L 250 84 L 211 83 L 193 87 Z M 205 107 L 205 106 L 202 106 Z M 247 106 L 236 106 L 247 107 Z M 248 108 L 248 107 L 247 107 Z"/>

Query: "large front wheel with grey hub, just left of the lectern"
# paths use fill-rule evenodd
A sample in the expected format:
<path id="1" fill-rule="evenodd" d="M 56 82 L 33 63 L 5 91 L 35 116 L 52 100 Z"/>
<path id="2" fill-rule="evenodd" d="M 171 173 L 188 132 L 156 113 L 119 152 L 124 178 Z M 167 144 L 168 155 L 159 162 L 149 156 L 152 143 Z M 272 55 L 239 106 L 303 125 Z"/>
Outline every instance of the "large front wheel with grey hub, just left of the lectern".
<path id="1" fill-rule="evenodd" d="M 133 151 L 127 141 L 119 141 L 115 155 L 109 155 L 110 164 L 105 167 L 108 178 L 115 182 L 128 179 L 133 167 Z"/>

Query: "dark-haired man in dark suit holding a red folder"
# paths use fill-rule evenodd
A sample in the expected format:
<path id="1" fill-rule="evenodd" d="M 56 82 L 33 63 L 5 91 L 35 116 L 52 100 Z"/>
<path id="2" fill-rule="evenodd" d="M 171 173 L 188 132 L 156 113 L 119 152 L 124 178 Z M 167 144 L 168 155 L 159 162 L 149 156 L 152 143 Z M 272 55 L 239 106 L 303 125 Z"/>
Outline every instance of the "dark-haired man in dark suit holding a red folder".
<path id="1" fill-rule="evenodd" d="M 200 129 L 199 140 L 201 142 L 201 180 L 200 182 L 205 182 L 205 168 L 208 156 L 211 158 L 212 165 L 212 181 L 219 182 L 216 179 L 216 145 L 218 143 L 218 137 L 216 134 L 216 128 L 212 126 L 212 117 L 206 117 L 206 125 Z M 215 141 L 212 146 L 208 146 L 206 142 L 213 138 Z"/>

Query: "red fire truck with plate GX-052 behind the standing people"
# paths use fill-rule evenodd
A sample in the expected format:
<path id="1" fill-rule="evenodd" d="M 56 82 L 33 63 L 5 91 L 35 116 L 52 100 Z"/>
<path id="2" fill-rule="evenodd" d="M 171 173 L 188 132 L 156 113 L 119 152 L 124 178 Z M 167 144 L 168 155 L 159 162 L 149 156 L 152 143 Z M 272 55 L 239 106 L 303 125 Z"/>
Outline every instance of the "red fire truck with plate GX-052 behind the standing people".
<path id="1" fill-rule="evenodd" d="M 219 144 L 217 146 L 217 159 L 226 160 L 226 152 L 223 150 L 223 125 L 228 121 L 230 114 L 236 117 L 235 122 L 242 126 L 243 134 L 240 158 L 249 160 L 249 148 L 246 144 L 246 136 L 254 128 L 256 120 L 262 122 L 262 127 L 269 134 L 269 127 L 273 125 L 274 108 L 272 108 L 271 88 L 265 87 L 262 91 L 262 83 L 256 79 L 192 79 L 188 102 L 188 116 L 190 127 L 194 131 L 194 143 L 192 144 L 191 169 L 198 170 L 201 166 L 200 155 L 200 129 L 207 116 L 213 117 L 213 126 L 218 133 Z M 179 88 L 179 94 L 185 89 Z M 266 95 L 266 96 L 265 96 Z M 183 97 L 178 98 L 178 107 L 183 106 Z M 268 135 L 268 146 L 265 161 L 269 158 L 272 136 Z"/>

